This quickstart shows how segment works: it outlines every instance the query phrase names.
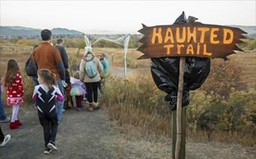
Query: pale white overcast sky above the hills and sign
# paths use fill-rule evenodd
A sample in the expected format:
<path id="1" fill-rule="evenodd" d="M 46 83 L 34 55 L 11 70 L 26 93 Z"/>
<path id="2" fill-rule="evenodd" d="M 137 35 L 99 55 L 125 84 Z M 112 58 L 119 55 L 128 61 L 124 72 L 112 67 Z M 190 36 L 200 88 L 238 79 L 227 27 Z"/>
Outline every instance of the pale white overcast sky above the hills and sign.
<path id="1" fill-rule="evenodd" d="M 255 26 L 251 1 L 1 1 L 1 26 L 54 27 L 85 34 L 138 34 L 147 26 L 172 25 L 177 17 L 197 17 L 211 25 Z"/>

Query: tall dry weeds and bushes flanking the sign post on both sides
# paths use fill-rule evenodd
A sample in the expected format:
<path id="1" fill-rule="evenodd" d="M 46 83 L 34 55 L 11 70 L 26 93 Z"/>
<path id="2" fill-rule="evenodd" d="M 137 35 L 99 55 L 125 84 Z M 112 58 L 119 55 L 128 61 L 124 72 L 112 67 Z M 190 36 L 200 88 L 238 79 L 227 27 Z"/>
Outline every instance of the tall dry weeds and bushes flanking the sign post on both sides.
<path id="1" fill-rule="evenodd" d="M 190 91 L 190 104 L 187 106 L 189 139 L 244 145 L 256 143 L 256 126 L 252 122 L 255 90 L 244 92 L 233 88 L 230 92 L 226 100 L 213 91 Z M 109 77 L 103 87 L 101 103 L 108 118 L 127 134 L 171 137 L 171 112 L 163 100 L 164 96 L 165 93 L 155 86 L 150 69 L 137 69 L 127 80 Z M 131 127 L 137 130 L 137 134 L 130 130 Z M 223 138 L 223 134 L 228 135 Z"/>

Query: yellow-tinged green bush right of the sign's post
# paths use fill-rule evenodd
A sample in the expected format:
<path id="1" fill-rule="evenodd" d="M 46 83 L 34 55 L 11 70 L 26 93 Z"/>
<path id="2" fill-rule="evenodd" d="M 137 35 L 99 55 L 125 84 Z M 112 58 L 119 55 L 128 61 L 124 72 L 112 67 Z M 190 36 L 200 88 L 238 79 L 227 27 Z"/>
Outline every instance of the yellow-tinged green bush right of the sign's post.
<path id="1" fill-rule="evenodd" d="M 256 126 L 252 117 L 256 112 L 256 91 L 236 91 L 231 88 L 228 100 L 202 90 L 190 92 L 187 123 L 190 128 L 251 132 Z M 195 126 L 196 125 L 196 126 Z"/>

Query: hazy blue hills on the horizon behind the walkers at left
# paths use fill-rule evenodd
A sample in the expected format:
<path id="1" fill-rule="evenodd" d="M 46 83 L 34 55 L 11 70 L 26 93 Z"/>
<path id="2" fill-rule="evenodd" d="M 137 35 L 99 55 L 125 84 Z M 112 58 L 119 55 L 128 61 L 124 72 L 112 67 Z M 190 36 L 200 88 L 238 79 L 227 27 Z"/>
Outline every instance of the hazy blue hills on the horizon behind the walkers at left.
<path id="1" fill-rule="evenodd" d="M 40 29 L 20 26 L 0 26 L 0 35 L 2 36 L 35 36 L 40 35 Z M 83 35 L 84 33 L 65 28 L 54 28 L 51 30 L 53 35 Z"/>

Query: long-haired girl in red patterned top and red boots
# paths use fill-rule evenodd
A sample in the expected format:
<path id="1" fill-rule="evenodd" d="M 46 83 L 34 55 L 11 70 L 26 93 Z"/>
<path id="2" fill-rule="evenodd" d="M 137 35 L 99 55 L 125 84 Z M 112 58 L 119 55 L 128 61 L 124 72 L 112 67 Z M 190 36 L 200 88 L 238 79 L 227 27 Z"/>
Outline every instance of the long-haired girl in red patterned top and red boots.
<path id="1" fill-rule="evenodd" d="M 10 129 L 17 129 L 22 125 L 18 119 L 20 105 L 23 104 L 23 85 L 20 69 L 15 59 L 7 62 L 7 72 L 4 78 L 4 87 L 7 90 L 7 106 L 12 106 L 12 119 L 9 124 Z"/>

